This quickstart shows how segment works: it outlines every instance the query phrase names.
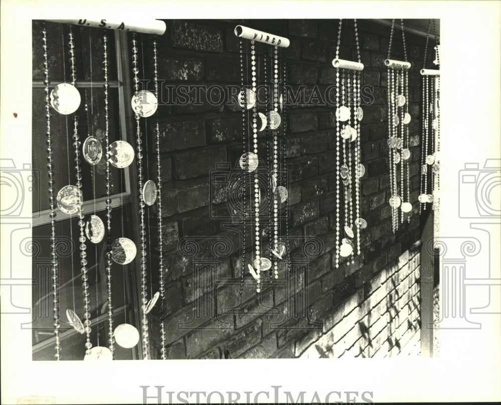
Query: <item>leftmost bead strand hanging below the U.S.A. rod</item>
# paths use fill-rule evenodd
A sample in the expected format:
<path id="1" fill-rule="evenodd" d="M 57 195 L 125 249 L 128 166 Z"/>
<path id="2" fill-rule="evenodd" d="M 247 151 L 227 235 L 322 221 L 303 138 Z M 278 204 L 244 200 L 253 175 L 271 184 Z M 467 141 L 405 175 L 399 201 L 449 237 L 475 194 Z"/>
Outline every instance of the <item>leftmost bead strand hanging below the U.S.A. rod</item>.
<path id="1" fill-rule="evenodd" d="M 56 336 L 56 359 L 61 359 L 61 345 L 59 340 L 59 261 L 56 253 L 56 204 L 54 201 L 54 163 L 53 163 L 53 149 L 52 149 L 52 136 L 51 136 L 51 104 L 49 93 L 49 61 L 47 55 L 47 30 L 42 29 L 43 34 L 43 49 L 44 49 L 44 85 L 45 85 L 45 117 L 47 119 L 47 177 L 49 178 L 49 206 L 51 218 L 51 273 L 52 273 L 52 315 L 54 319 L 54 335 Z"/>

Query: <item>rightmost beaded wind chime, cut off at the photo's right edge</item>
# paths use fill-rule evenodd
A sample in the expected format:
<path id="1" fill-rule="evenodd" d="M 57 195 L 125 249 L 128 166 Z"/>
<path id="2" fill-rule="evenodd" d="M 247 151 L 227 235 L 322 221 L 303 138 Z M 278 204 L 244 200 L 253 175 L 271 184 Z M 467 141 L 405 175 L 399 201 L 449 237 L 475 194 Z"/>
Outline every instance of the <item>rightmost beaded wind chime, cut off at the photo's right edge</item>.
<path id="1" fill-rule="evenodd" d="M 435 211 L 435 235 L 438 235 L 439 208 L 439 152 L 440 152 L 440 70 L 426 69 L 428 37 L 431 20 L 428 23 L 428 35 L 424 51 L 422 75 L 422 141 L 421 141 L 421 190 L 419 194 L 419 213 L 426 210 L 427 204 Z M 433 20 L 433 31 L 435 31 Z M 440 65 L 439 45 L 435 44 L 435 65 Z"/>

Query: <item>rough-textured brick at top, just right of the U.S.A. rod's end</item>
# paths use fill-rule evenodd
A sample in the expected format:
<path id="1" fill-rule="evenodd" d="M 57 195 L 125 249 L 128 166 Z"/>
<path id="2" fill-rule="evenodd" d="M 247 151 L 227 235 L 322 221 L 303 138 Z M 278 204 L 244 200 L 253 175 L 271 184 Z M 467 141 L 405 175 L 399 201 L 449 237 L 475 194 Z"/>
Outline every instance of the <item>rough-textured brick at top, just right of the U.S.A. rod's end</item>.
<path id="1" fill-rule="evenodd" d="M 174 48 L 203 52 L 222 51 L 221 32 L 212 27 L 176 21 L 170 30 L 170 37 Z"/>

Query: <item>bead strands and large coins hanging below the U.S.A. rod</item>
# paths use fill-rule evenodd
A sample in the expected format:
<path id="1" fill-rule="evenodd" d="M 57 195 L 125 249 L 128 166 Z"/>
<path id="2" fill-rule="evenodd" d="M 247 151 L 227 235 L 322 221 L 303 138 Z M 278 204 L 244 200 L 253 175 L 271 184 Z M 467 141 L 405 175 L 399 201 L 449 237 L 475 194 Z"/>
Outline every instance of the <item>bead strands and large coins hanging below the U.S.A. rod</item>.
<path id="1" fill-rule="evenodd" d="M 149 357 L 149 334 L 148 334 L 148 319 L 147 314 L 153 306 L 155 305 L 159 296 L 161 296 L 162 301 L 164 299 L 165 288 L 163 284 L 163 258 L 162 258 L 162 226 L 161 226 L 161 198 L 157 197 L 157 189 L 160 190 L 161 187 L 161 172 L 160 172 L 160 148 L 159 148 L 159 131 L 158 122 L 156 123 L 156 164 L 157 164 L 157 185 L 154 181 L 148 180 L 143 184 L 143 141 L 141 133 L 140 119 L 152 116 L 157 109 L 157 99 L 158 99 L 158 77 L 157 77 L 157 49 L 156 42 L 154 42 L 154 72 L 155 72 L 155 94 L 143 90 L 139 91 L 139 62 L 138 62 L 138 41 L 136 39 L 136 34 L 133 34 L 132 40 L 132 72 L 134 74 L 134 95 L 131 101 L 132 109 L 134 111 L 134 116 L 136 120 L 136 152 L 134 148 L 126 141 L 119 140 L 110 144 L 109 139 L 109 100 L 108 100 L 108 38 L 105 31 L 103 36 L 103 72 L 104 72 L 104 110 L 105 110 L 105 154 L 103 156 L 103 147 L 101 141 L 88 133 L 82 145 L 82 151 L 80 150 L 81 142 L 79 135 L 79 117 L 76 114 L 77 110 L 81 105 L 80 92 L 76 87 L 76 50 L 75 50 L 75 36 L 73 33 L 73 27 L 69 26 L 68 33 L 68 48 L 69 48 L 69 63 L 71 69 L 71 84 L 61 83 L 58 84 L 52 92 L 49 89 L 49 69 L 48 69 L 48 53 L 47 53 L 47 31 L 43 29 L 43 49 L 44 49 L 44 74 L 45 74 L 45 93 L 46 93 L 46 118 L 47 118 L 47 159 L 48 159 L 48 177 L 49 177 L 49 200 L 50 200 L 50 218 L 51 218 L 51 272 L 52 272 L 52 283 L 53 283 L 53 317 L 54 317 L 54 327 L 56 336 L 56 358 L 61 359 L 61 346 L 60 346 L 60 327 L 61 319 L 59 316 L 59 268 L 58 268 L 58 258 L 56 253 L 56 206 L 54 204 L 54 163 L 53 163 L 53 148 L 52 148 L 52 134 L 51 134 L 51 124 L 50 124 L 50 108 L 52 107 L 61 115 L 72 115 L 73 118 L 73 150 L 74 150 L 74 162 L 75 162 L 75 185 L 66 185 L 62 187 L 56 197 L 56 202 L 58 208 L 62 213 L 70 215 L 73 214 L 78 216 L 78 226 L 80 230 L 79 236 L 79 249 L 80 249 L 80 264 L 81 264 L 81 278 L 82 278 L 82 290 L 83 290 L 83 309 L 84 309 L 84 321 L 79 318 L 74 309 L 67 309 L 66 315 L 69 324 L 79 333 L 86 335 L 86 354 L 84 359 L 94 360 L 94 359 L 113 359 L 115 351 L 115 343 L 119 344 L 124 348 L 134 347 L 140 338 L 138 330 L 129 323 L 122 323 L 113 329 L 113 306 L 112 306 L 112 264 L 113 261 L 119 265 L 126 265 L 134 260 L 137 249 L 135 243 L 126 237 L 119 237 L 112 242 L 112 228 L 111 228 L 111 188 L 112 188 L 112 176 L 110 165 L 123 169 L 127 168 L 134 160 L 134 155 L 137 153 L 137 166 L 138 166 L 138 199 L 139 199 L 139 214 L 140 214 L 140 269 L 141 269 L 141 309 L 142 309 L 142 319 L 141 319 L 141 330 L 142 330 L 142 349 L 143 358 L 148 359 Z M 63 47 L 64 47 L 63 38 Z M 92 99 L 92 92 L 91 92 Z M 88 118 L 89 110 L 87 104 L 85 105 L 85 112 Z M 89 119 L 87 120 L 89 122 Z M 89 128 L 88 128 L 89 130 Z M 68 142 L 69 143 L 69 142 Z M 85 161 L 94 167 L 100 164 L 104 160 L 104 166 L 106 167 L 106 227 L 103 221 L 94 212 L 85 221 L 85 214 L 83 212 L 83 193 L 82 193 L 82 182 L 85 180 L 82 176 L 81 167 L 81 156 L 84 157 Z M 69 170 L 69 169 L 68 169 Z M 92 172 L 93 175 L 94 171 Z M 159 193 L 158 193 L 159 194 Z M 94 199 L 95 199 L 94 195 Z M 158 214 L 158 241 L 160 250 L 160 291 L 153 295 L 152 299 L 148 301 L 147 299 L 147 280 L 146 280 L 146 242 L 147 242 L 147 230 L 144 221 L 145 216 L 145 206 L 151 206 L 157 202 L 157 214 Z M 71 224 L 71 223 L 70 223 Z M 94 346 L 91 343 L 91 302 L 89 293 L 89 268 L 87 267 L 87 241 L 94 244 L 99 244 L 105 234 L 105 229 L 107 231 L 107 243 L 103 246 L 105 249 L 105 272 L 107 279 L 107 302 L 106 307 L 108 309 L 108 347 Z M 123 234 L 123 226 L 121 230 Z M 73 234 L 73 232 L 72 232 Z M 124 268 L 123 268 L 124 269 Z M 125 272 L 125 269 L 123 270 Z M 64 321 L 62 321 L 64 322 Z M 66 322 L 64 322 L 66 323 Z M 165 328 L 163 322 L 161 323 L 161 338 L 162 338 L 162 358 L 165 358 Z M 98 341 L 99 342 L 99 341 Z"/>

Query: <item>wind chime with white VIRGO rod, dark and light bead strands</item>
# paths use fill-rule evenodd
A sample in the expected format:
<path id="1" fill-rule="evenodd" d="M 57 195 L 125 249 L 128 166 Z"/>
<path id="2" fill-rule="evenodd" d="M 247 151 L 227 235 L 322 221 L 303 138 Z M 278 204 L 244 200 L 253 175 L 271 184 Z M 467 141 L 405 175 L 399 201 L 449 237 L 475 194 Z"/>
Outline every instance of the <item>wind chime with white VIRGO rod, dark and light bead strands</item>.
<path id="1" fill-rule="evenodd" d="M 242 222 L 243 239 L 241 250 L 241 271 L 240 271 L 240 296 L 243 290 L 243 276 L 245 268 L 256 280 L 256 291 L 261 292 L 262 280 L 265 272 L 269 271 L 270 279 L 279 278 L 279 261 L 287 258 L 287 268 L 290 271 L 290 249 L 289 249 L 289 203 L 287 184 L 287 173 L 285 170 L 286 160 L 286 88 L 287 72 L 285 66 L 285 48 L 289 46 L 287 38 L 278 37 L 243 26 L 236 26 L 234 33 L 240 38 L 240 80 L 241 91 L 239 96 L 239 107 L 242 114 L 242 155 L 239 160 L 240 168 L 243 171 L 242 187 Z M 246 88 L 244 81 L 244 60 L 243 41 L 250 40 L 250 72 L 252 85 Z M 264 82 L 265 82 L 265 113 L 258 112 L 258 88 L 259 88 L 259 60 L 257 58 L 257 43 L 272 46 L 273 57 L 268 57 L 268 47 L 264 50 Z M 280 52 L 282 50 L 282 58 Z M 271 65 L 272 69 L 269 68 Z M 282 65 L 282 66 L 281 66 Z M 247 72 L 249 68 L 247 68 Z M 269 72 L 271 71 L 270 77 Z M 270 79 L 271 88 L 268 87 Z M 250 111 L 248 111 L 250 110 Z M 258 144 L 258 132 L 265 132 L 266 140 L 266 185 L 265 192 L 262 193 L 262 181 L 260 181 L 260 161 L 261 150 Z M 281 137 L 282 135 L 282 137 Z M 282 139 L 280 139 L 282 138 Z M 270 149 L 272 152 L 270 152 Z M 248 177 L 247 177 L 248 176 Z M 252 177 L 254 176 L 254 180 Z M 247 210 L 247 184 L 250 187 L 250 209 Z M 265 194 L 265 195 L 263 195 Z M 253 198 L 254 197 L 254 198 Z M 268 204 L 268 218 L 263 220 L 261 213 L 265 210 L 262 207 L 263 201 Z M 279 220 L 279 208 L 284 204 L 285 229 L 284 224 Z M 273 218 L 272 218 L 273 212 Z M 268 220 L 268 222 L 266 222 Z M 249 257 L 245 253 L 247 238 L 247 221 L 254 225 L 252 244 L 254 248 L 254 259 L 252 254 Z M 264 224 L 263 224 L 264 223 Z M 266 233 L 264 228 L 270 227 L 270 246 L 268 251 L 263 244 L 263 236 Z M 285 230 L 285 239 L 283 231 Z M 268 257 L 267 257 L 268 256 Z M 247 262 L 247 260 L 249 262 Z"/>

